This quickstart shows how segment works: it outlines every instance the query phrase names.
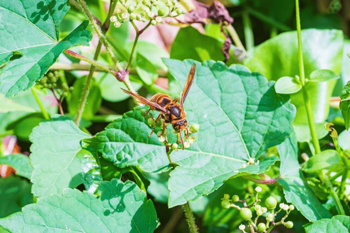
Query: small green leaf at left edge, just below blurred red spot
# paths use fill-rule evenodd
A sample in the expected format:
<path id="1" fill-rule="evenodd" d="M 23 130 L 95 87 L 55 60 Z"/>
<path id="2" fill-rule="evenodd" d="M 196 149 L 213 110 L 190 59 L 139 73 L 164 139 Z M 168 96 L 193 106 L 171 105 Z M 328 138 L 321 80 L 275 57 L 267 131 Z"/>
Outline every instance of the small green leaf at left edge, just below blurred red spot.
<path id="1" fill-rule="evenodd" d="M 9 154 L 0 157 L 0 164 L 12 166 L 16 170 L 16 175 L 30 180 L 33 167 L 29 164 L 29 157 L 24 154 Z"/>

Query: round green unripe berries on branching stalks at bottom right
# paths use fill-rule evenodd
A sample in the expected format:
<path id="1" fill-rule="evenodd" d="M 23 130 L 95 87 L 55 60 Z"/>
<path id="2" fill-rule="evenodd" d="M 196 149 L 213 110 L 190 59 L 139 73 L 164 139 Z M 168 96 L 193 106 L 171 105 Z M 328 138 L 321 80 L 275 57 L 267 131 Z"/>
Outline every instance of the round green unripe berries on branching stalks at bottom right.
<path id="1" fill-rule="evenodd" d="M 262 206 L 261 200 L 258 199 L 258 193 L 262 191 L 262 188 L 260 186 L 255 188 L 256 194 L 250 194 L 245 200 L 240 200 L 240 198 L 238 197 L 238 195 L 233 195 L 232 198 L 230 199 L 230 196 L 228 194 L 224 194 L 224 198 L 221 201 L 221 206 L 224 209 L 228 209 L 228 208 L 236 208 L 238 209 L 240 212 L 240 217 L 245 220 L 248 221 L 248 228 L 253 227 L 255 232 L 257 233 L 266 233 L 266 232 L 270 232 L 272 228 L 274 228 L 277 225 L 284 225 L 287 228 L 293 228 L 293 222 L 292 221 L 287 221 L 285 222 L 284 220 L 288 217 L 289 213 L 294 210 L 294 205 L 287 205 L 284 203 L 280 203 L 280 210 L 279 211 L 275 211 L 275 208 L 277 207 L 277 200 L 274 197 L 268 197 L 265 201 L 264 201 L 264 205 Z M 254 203 L 247 205 L 247 201 L 251 200 L 251 198 L 255 197 Z M 253 200 L 251 200 L 253 201 Z M 238 205 L 237 202 L 240 202 L 242 206 L 242 203 L 244 205 L 244 207 L 240 207 Z M 254 210 L 256 212 L 256 218 L 253 220 L 253 213 L 252 210 Z M 281 211 L 285 211 L 286 214 L 285 216 L 283 216 L 281 218 L 280 221 L 276 221 L 276 216 L 278 213 L 280 213 Z M 266 223 L 259 223 L 258 222 L 258 218 L 262 216 L 266 219 Z M 239 226 L 239 229 L 241 231 L 245 232 L 245 225 L 241 224 Z"/>

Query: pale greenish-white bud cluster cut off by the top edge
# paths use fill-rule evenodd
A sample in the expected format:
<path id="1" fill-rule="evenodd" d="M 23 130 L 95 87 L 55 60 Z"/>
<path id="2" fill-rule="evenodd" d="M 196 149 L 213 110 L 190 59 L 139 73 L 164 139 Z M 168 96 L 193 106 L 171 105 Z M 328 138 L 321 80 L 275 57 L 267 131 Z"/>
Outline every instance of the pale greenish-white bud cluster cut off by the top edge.
<path id="1" fill-rule="evenodd" d="M 165 17 L 177 17 L 186 11 L 177 0 L 118 0 L 114 13 L 110 21 L 118 28 L 130 20 L 156 25 Z"/>

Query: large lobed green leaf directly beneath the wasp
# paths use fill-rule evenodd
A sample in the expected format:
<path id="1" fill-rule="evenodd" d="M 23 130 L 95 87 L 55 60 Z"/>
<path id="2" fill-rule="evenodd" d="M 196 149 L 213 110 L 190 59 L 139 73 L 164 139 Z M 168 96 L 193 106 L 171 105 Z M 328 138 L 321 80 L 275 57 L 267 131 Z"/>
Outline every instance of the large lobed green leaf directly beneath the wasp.
<path id="1" fill-rule="evenodd" d="M 164 60 L 181 85 L 193 62 Z M 241 65 L 195 63 L 197 74 L 184 109 L 188 122 L 200 124 L 200 130 L 189 150 L 171 154 L 180 166 L 171 172 L 169 206 L 196 200 L 241 171 L 262 173 L 276 162 L 275 157 L 250 166 L 248 160 L 256 162 L 265 149 L 293 131 L 295 108 L 288 96 L 274 91 L 274 82 Z M 165 147 L 155 133 L 148 138 L 149 132 L 144 117 L 135 110 L 85 141 L 119 167 L 140 166 L 148 172 L 169 168 Z"/>

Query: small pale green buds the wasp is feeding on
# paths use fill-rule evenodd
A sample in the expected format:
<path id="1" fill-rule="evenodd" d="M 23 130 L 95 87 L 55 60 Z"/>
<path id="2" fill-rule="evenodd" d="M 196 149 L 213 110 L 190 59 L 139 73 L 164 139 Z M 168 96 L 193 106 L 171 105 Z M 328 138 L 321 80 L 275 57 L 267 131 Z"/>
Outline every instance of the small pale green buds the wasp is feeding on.
<path id="1" fill-rule="evenodd" d="M 152 114 L 145 115 L 144 109 L 141 109 L 141 114 L 147 120 L 148 125 L 150 127 L 153 127 L 155 124 L 156 118 Z M 167 138 L 167 135 L 169 134 L 169 131 L 167 130 L 168 125 L 169 125 L 169 123 L 167 123 L 165 125 L 165 129 L 163 129 L 163 120 L 161 118 L 159 118 L 158 121 L 156 122 L 156 127 L 159 127 L 159 128 L 161 128 L 161 130 L 164 130 L 163 134 L 162 134 L 162 131 L 159 131 L 157 133 L 159 142 L 161 142 L 164 146 L 168 146 L 169 148 L 171 148 L 172 150 L 175 150 L 175 151 L 177 151 L 178 149 L 182 149 L 179 132 L 176 132 L 174 130 L 174 133 L 176 134 L 176 137 L 177 137 L 177 141 L 175 143 L 171 143 L 168 141 L 168 138 Z M 185 149 L 191 147 L 191 145 L 195 142 L 196 136 L 191 136 L 191 134 L 197 133 L 198 130 L 199 130 L 198 124 L 191 125 L 188 136 L 185 134 L 185 136 L 183 137 L 183 141 L 184 141 L 183 146 Z"/>

